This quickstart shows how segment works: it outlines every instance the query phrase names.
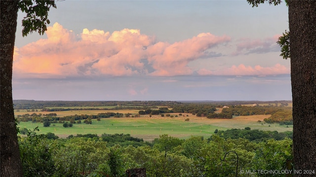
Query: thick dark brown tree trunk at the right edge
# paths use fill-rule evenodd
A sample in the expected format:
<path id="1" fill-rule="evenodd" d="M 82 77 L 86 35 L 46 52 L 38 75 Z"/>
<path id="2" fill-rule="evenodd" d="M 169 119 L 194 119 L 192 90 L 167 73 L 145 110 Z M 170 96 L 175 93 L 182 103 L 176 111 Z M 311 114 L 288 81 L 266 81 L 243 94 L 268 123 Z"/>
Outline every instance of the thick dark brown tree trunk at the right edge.
<path id="1" fill-rule="evenodd" d="M 294 168 L 302 173 L 304 170 L 316 173 L 316 1 L 289 0 L 288 15 Z"/>

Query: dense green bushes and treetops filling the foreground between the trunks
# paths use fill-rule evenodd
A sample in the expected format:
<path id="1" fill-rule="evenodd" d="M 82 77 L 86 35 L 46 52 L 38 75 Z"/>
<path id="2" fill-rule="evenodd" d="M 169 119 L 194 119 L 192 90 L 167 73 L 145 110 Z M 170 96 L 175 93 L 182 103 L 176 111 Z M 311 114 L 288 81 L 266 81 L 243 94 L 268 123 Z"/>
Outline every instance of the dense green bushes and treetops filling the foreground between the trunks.
<path id="1" fill-rule="evenodd" d="M 147 177 L 232 177 L 236 155 L 230 153 L 221 161 L 228 151 L 238 154 L 238 172 L 291 168 L 292 140 L 287 138 L 256 142 L 219 135 L 209 140 L 161 135 L 153 143 L 144 143 L 128 134 L 55 139 L 48 138 L 53 133 L 37 135 L 35 131 L 19 139 L 25 177 L 125 177 L 125 171 L 133 168 L 146 168 Z"/>

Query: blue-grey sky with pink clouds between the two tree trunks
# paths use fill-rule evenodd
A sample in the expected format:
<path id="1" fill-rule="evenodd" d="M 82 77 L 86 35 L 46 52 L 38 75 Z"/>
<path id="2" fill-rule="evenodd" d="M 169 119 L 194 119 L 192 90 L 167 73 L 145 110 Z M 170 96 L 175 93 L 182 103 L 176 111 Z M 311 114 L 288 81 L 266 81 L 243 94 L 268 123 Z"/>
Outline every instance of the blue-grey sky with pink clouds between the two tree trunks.
<path id="1" fill-rule="evenodd" d="M 13 99 L 291 100 L 276 44 L 285 3 L 246 0 L 64 0 L 45 34 L 22 37 Z"/>

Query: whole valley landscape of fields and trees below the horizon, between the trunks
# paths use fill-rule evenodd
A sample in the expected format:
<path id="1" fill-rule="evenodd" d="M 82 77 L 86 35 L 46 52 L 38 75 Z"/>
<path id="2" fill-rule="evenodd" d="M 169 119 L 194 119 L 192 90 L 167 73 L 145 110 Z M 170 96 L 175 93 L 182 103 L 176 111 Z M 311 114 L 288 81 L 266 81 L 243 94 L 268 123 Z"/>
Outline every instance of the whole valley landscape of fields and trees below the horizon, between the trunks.
<path id="1" fill-rule="evenodd" d="M 14 110 L 25 176 L 138 169 L 148 177 L 256 177 L 279 169 L 283 177 L 292 175 L 284 171 L 293 158 L 291 104 L 14 100 Z"/>

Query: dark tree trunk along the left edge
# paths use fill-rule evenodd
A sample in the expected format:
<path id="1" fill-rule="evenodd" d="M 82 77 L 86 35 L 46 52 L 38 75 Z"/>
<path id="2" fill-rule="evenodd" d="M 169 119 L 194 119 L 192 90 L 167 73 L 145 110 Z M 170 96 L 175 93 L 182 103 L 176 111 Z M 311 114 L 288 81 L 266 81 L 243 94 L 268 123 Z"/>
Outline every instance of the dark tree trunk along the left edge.
<path id="1" fill-rule="evenodd" d="M 17 24 L 18 0 L 0 1 L 0 176 L 22 177 L 12 102 L 12 63 Z"/>

